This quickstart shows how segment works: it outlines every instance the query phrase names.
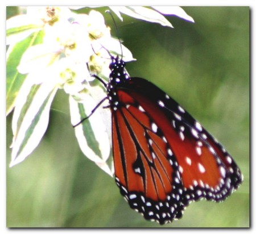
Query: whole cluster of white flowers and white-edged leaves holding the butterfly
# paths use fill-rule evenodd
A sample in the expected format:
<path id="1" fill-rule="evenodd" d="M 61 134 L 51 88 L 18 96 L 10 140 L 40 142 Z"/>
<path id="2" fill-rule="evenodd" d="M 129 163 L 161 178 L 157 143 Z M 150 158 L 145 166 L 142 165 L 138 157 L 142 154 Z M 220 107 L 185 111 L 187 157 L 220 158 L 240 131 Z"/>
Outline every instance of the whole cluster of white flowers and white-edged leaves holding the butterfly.
<path id="1" fill-rule="evenodd" d="M 127 14 L 172 27 L 162 15 L 169 14 L 193 22 L 180 7 L 109 8 L 121 20 L 121 14 Z M 26 159 L 41 141 L 57 90 L 63 89 L 69 95 L 71 122 L 76 125 L 106 96 L 100 82 L 98 86 L 92 86 L 91 82 L 95 79 L 93 75 L 108 82 L 110 54 L 122 56 L 124 61 L 135 59 L 129 49 L 111 36 L 104 16 L 96 10 L 76 14 L 68 7 L 27 7 L 27 14 L 8 19 L 6 28 L 7 67 L 12 65 L 8 60 L 10 54 L 18 53 L 20 43 L 31 37 L 16 67 L 27 78 L 18 87 L 18 95 L 12 96 L 15 102 L 10 166 L 13 166 Z M 7 79 L 15 81 L 13 77 Z M 92 117 L 75 127 L 75 133 L 82 152 L 113 175 L 110 119 L 109 109 L 98 108 Z"/>

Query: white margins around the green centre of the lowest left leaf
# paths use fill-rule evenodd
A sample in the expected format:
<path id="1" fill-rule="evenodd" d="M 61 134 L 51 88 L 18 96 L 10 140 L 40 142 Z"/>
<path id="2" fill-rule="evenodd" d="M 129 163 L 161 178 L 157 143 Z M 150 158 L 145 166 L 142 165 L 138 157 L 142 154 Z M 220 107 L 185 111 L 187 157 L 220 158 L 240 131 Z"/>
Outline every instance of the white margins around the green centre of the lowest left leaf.
<path id="1" fill-rule="evenodd" d="M 26 85 L 26 83 L 24 83 L 23 86 L 24 85 Z M 11 153 L 10 167 L 13 167 L 14 165 L 22 162 L 24 159 L 27 158 L 28 155 L 31 154 L 31 152 L 36 148 L 36 146 L 38 146 L 48 126 L 49 110 L 51 108 L 51 103 L 52 103 L 53 97 L 55 96 L 56 91 L 57 91 L 57 88 L 52 86 L 52 84 L 49 84 L 49 83 L 43 83 L 39 87 L 38 91 L 36 92 L 31 102 L 30 107 L 27 109 L 27 112 L 24 115 L 24 118 L 18 130 L 18 133 L 16 133 L 19 114 L 24 104 L 24 101 L 27 98 L 27 96 L 24 95 L 24 92 L 19 92 L 19 95 L 17 96 L 17 99 L 16 99 L 17 101 L 15 104 L 14 118 L 13 118 L 13 125 L 12 125 L 13 132 L 14 132 L 14 140 L 12 144 L 13 150 Z M 24 97 L 22 95 L 24 95 Z M 40 108 L 42 107 L 43 104 L 45 104 L 45 102 L 47 103 L 42 113 L 39 116 L 38 123 L 34 126 L 34 130 L 32 131 L 32 134 L 28 136 L 28 141 L 26 145 L 23 147 L 22 151 L 20 151 L 20 147 L 22 146 L 22 144 L 24 143 L 24 139 L 26 138 L 26 131 L 33 124 L 33 120 L 35 116 L 39 113 Z"/>

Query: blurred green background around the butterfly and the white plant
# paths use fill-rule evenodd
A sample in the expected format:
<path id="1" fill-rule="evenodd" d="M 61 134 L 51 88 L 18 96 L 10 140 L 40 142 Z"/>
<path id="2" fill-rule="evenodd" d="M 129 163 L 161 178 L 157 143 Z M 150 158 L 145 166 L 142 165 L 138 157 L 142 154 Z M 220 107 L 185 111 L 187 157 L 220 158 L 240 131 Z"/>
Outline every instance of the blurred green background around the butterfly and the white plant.
<path id="1" fill-rule="evenodd" d="M 250 10 L 183 8 L 195 23 L 167 17 L 174 29 L 115 17 L 121 39 L 137 58 L 127 70 L 166 91 L 224 144 L 243 173 L 240 188 L 222 203 L 191 203 L 171 224 L 147 222 L 130 209 L 114 179 L 82 154 L 68 97 L 59 91 L 43 141 L 13 168 L 12 114 L 7 117 L 7 227 L 249 227 Z M 96 10 L 104 14 L 106 8 Z M 7 17 L 17 12 L 7 7 Z M 104 16 L 115 34 L 110 16 Z"/>

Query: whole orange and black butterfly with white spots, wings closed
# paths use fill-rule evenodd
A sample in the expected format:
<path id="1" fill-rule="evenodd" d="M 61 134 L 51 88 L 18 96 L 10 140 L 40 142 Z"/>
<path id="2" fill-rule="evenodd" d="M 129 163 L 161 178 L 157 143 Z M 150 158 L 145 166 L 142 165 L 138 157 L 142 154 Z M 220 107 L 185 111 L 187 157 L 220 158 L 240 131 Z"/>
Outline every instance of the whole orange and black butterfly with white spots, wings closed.
<path id="1" fill-rule="evenodd" d="M 111 59 L 109 82 L 95 77 L 106 87 L 115 182 L 130 207 L 165 224 L 192 201 L 220 202 L 236 190 L 242 173 L 225 148 L 172 97 Z"/>

